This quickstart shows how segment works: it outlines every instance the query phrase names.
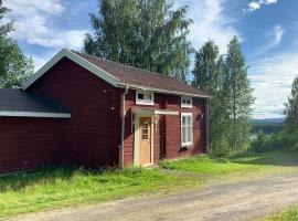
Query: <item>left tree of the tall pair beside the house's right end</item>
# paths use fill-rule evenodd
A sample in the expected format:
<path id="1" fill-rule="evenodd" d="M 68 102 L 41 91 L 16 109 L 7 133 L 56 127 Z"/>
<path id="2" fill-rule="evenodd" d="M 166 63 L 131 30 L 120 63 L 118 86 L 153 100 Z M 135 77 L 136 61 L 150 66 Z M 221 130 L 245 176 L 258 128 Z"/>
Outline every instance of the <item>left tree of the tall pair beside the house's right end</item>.
<path id="1" fill-rule="evenodd" d="M 209 152 L 225 155 L 228 152 L 230 113 L 228 99 L 224 91 L 225 63 L 214 42 L 206 42 L 195 54 L 192 84 L 212 94 L 209 101 L 210 147 Z"/>

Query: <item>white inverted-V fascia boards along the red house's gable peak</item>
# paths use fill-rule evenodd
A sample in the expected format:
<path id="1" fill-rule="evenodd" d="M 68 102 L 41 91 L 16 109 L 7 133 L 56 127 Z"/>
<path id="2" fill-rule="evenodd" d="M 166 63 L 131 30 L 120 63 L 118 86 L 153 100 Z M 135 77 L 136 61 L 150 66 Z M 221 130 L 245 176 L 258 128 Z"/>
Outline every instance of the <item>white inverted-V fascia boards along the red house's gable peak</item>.
<path id="1" fill-rule="evenodd" d="M 77 54 L 68 51 L 66 49 L 61 50 L 53 59 L 51 59 L 46 64 L 44 64 L 23 86 L 23 90 L 30 87 L 35 81 L 38 81 L 43 74 L 45 74 L 52 66 L 54 66 L 58 61 L 63 57 L 67 57 L 71 61 L 75 62 L 76 64 L 81 65 L 82 67 L 88 70 L 96 76 L 100 77 L 102 80 L 106 81 L 107 83 L 111 84 L 113 86 L 117 86 L 119 80 L 115 76 L 108 74 L 104 70 L 99 69 L 98 66 L 92 64 L 91 62 L 86 61 L 85 59 L 78 56 Z"/>

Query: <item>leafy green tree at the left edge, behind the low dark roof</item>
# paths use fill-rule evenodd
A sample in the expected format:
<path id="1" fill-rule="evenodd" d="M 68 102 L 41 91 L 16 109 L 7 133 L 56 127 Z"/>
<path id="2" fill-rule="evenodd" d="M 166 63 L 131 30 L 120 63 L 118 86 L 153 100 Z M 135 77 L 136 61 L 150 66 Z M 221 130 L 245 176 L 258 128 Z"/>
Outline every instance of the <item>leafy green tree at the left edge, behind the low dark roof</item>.
<path id="1" fill-rule="evenodd" d="M 0 0 L 0 23 L 8 11 Z M 33 73 L 33 62 L 7 36 L 10 31 L 12 22 L 0 25 L 0 87 L 17 88 Z"/>

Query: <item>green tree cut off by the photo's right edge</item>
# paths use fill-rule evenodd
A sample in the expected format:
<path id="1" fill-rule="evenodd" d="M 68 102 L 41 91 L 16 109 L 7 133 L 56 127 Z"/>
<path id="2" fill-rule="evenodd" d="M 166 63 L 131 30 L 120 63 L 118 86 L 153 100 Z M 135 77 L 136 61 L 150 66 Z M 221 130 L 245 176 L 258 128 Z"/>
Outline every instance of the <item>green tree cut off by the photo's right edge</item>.
<path id="1" fill-rule="evenodd" d="M 285 106 L 286 129 L 292 133 L 298 129 L 298 76 L 292 82 L 291 93 Z"/>

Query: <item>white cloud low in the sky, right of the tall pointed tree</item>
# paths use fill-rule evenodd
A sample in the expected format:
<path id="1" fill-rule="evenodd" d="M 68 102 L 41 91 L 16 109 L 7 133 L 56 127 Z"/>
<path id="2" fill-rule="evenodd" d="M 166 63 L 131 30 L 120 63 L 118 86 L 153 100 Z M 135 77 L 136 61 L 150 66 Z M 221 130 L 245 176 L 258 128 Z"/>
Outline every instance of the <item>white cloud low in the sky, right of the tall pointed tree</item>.
<path id="1" fill-rule="evenodd" d="M 252 65 L 249 77 L 255 87 L 254 117 L 281 117 L 284 103 L 298 74 L 298 53 L 284 53 Z"/>

